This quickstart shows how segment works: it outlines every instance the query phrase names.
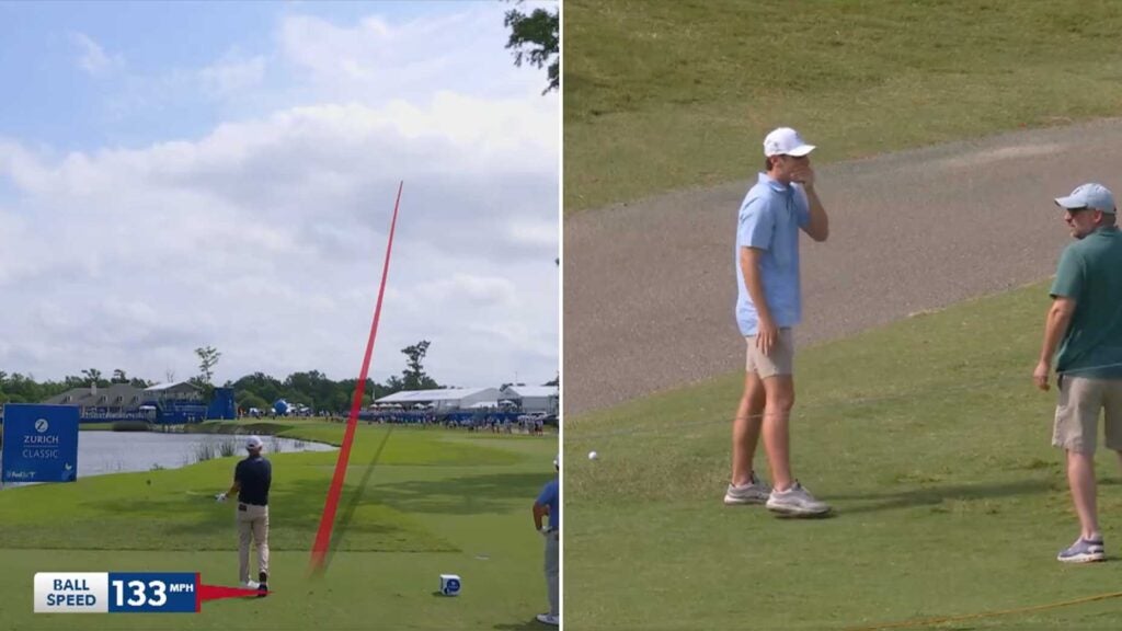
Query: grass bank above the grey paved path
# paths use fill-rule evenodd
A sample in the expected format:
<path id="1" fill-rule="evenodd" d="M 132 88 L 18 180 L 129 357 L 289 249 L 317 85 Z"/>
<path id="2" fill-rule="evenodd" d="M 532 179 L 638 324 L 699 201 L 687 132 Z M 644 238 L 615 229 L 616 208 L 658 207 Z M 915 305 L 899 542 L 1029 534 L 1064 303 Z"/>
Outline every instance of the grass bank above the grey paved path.
<path id="1" fill-rule="evenodd" d="M 564 211 L 1122 113 L 1122 3 L 567 0 Z"/>

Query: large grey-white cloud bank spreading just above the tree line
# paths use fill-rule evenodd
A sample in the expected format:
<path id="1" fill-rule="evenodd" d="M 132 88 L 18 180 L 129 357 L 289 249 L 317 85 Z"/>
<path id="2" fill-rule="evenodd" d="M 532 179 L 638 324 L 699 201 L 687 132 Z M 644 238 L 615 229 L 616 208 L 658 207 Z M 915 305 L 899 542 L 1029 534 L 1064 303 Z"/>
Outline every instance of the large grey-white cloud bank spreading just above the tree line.
<path id="1" fill-rule="evenodd" d="M 0 139 L 15 190 L 0 207 L 0 291 L 20 305 L 0 312 L 0 367 L 183 378 L 193 349 L 213 345 L 220 381 L 353 377 L 404 180 L 374 376 L 430 339 L 442 382 L 550 379 L 557 110 L 537 94 L 441 91 L 284 109 L 137 149 L 57 156 Z"/>

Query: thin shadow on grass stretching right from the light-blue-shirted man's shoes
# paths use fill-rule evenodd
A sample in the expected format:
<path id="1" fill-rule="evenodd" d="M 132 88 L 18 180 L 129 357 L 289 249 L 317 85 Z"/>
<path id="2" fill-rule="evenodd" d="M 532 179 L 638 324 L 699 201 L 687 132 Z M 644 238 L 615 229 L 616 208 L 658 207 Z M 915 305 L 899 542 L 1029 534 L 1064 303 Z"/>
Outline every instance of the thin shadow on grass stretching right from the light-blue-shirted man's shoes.
<path id="1" fill-rule="evenodd" d="M 899 493 L 864 493 L 831 495 L 828 500 L 836 502 L 858 502 L 863 505 L 842 509 L 843 514 L 873 513 L 895 509 L 916 506 L 937 506 L 947 500 L 1000 500 L 1019 495 L 1047 493 L 1055 488 L 1055 482 L 1043 479 L 1022 479 L 997 484 L 957 484 L 950 486 L 932 486 L 912 488 Z"/>

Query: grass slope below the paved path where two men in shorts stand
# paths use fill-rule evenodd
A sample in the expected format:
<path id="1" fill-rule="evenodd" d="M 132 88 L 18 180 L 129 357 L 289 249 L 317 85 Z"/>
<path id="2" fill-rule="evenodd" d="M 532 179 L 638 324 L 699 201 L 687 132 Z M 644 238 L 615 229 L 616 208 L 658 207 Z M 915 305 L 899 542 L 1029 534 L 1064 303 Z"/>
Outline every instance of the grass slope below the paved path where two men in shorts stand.
<path id="1" fill-rule="evenodd" d="M 1122 591 L 1113 452 L 1097 457 L 1111 560 L 1055 560 L 1078 522 L 1055 388 L 1030 378 L 1049 303 L 1036 284 L 800 351 L 793 472 L 830 519 L 721 503 L 739 374 L 567 419 L 565 628 L 840 630 Z M 755 465 L 770 477 L 762 449 Z M 1120 620 L 1114 598 L 934 628 Z"/>

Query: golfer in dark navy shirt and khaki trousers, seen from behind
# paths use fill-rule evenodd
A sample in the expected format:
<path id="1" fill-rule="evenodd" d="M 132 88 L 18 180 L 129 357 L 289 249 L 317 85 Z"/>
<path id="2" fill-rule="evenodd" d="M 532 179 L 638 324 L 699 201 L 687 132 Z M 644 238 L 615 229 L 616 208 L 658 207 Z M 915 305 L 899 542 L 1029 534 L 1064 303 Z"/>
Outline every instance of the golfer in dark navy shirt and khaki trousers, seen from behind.
<path id="1" fill-rule="evenodd" d="M 257 589 L 257 596 L 268 594 L 269 579 L 269 487 L 273 485 L 273 464 L 261 457 L 265 445 L 250 436 L 246 441 L 249 456 L 233 469 L 233 485 L 219 493 L 218 501 L 238 494 L 238 579 L 243 587 Z M 257 548 L 257 580 L 249 579 L 249 545 Z"/>

